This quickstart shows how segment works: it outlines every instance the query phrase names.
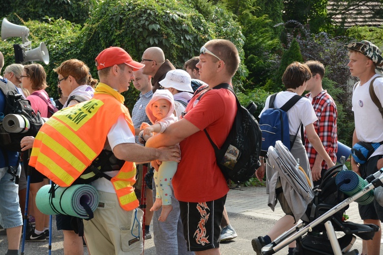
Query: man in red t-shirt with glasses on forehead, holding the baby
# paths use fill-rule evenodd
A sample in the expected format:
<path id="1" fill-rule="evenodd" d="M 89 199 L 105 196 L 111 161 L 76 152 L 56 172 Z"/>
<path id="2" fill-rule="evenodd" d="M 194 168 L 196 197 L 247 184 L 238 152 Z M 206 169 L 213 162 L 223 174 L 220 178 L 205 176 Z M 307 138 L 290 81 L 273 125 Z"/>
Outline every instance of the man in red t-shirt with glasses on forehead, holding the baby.
<path id="1" fill-rule="evenodd" d="M 181 120 L 146 145 L 180 143 L 182 160 L 173 178 L 174 193 L 180 201 L 187 248 L 196 254 L 220 254 L 220 223 L 229 188 L 204 130 L 218 147 L 226 140 L 237 110 L 235 96 L 227 89 L 213 88 L 231 84 L 239 64 L 238 51 L 228 40 L 210 40 L 201 47 L 197 67 L 208 87 L 189 101 Z"/>

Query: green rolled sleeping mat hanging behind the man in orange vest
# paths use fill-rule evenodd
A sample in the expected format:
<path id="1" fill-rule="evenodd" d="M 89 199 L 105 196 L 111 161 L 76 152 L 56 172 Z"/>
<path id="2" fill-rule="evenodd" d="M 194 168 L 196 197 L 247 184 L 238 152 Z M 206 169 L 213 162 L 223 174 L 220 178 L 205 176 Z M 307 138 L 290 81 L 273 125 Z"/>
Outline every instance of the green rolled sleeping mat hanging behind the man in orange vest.
<path id="1" fill-rule="evenodd" d="M 93 218 L 93 212 L 99 204 L 97 190 L 87 184 L 70 187 L 45 185 L 36 194 L 36 206 L 40 212 L 47 215 L 64 214 L 82 219 Z"/>

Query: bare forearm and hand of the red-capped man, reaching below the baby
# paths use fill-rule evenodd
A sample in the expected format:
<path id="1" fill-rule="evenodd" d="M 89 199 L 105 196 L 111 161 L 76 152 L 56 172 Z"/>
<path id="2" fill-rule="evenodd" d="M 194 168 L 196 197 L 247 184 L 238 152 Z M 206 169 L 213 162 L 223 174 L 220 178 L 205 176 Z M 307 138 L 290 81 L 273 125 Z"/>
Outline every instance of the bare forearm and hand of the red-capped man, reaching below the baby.
<path id="1" fill-rule="evenodd" d="M 149 162 L 153 160 L 180 162 L 178 146 L 147 148 L 136 143 L 121 143 L 113 148 L 117 159 L 129 162 Z"/>

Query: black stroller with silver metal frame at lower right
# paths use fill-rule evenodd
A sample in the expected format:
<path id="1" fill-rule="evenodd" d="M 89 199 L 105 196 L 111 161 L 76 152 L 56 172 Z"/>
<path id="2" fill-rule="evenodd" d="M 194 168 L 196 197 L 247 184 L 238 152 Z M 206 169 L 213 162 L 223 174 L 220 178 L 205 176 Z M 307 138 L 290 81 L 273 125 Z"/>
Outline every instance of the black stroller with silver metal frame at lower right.
<path id="1" fill-rule="evenodd" d="M 281 168 L 288 170 L 287 172 L 280 171 L 281 178 L 282 175 L 290 175 L 288 168 L 298 169 L 296 161 L 292 162 L 291 159 L 294 160 L 290 151 L 281 142 L 277 141 L 275 148 L 270 146 L 267 163 L 272 164 L 278 171 Z M 342 183 L 336 183 L 339 181 L 336 180 L 336 176 L 341 171 L 343 171 L 342 173 L 345 171 L 342 168 L 342 164 L 336 165 L 323 174 L 321 185 L 314 187 L 313 192 L 309 192 L 314 196 L 310 196 L 313 199 L 308 203 L 303 216 L 300 217 L 301 221 L 277 237 L 272 243 L 262 247 L 262 254 L 274 254 L 295 240 L 297 241 L 295 254 L 359 254 L 357 249 L 352 250 L 356 236 L 363 240 L 371 240 L 379 227 L 374 224 L 357 224 L 344 221 L 343 216 L 352 201 L 365 201 L 363 199 L 366 197 L 369 200 L 372 199 L 372 190 L 375 187 L 383 186 L 383 174 L 381 175 L 382 171 L 379 170 L 374 175 L 368 176 L 366 182 L 363 182 L 366 184 L 365 186 L 358 189 L 355 194 L 347 195 L 347 192 L 342 192 L 340 187 L 345 183 L 347 185 L 350 180 L 345 178 Z M 296 171 L 295 174 L 299 175 L 300 172 Z M 336 232 L 338 234 L 343 232 L 343 236 L 338 238 Z"/>

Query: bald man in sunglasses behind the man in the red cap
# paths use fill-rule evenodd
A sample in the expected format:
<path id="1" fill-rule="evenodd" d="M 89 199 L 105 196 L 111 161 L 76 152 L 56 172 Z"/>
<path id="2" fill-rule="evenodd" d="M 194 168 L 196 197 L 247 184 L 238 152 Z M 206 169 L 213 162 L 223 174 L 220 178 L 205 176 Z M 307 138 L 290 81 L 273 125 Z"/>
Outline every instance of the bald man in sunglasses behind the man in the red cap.
<path id="1" fill-rule="evenodd" d="M 142 54 L 141 63 L 145 64 L 142 73 L 152 77 L 153 92 L 160 87 L 159 82 L 165 78 L 166 73 L 176 69 L 169 60 L 165 60 L 165 55 L 159 47 L 147 48 Z"/>

